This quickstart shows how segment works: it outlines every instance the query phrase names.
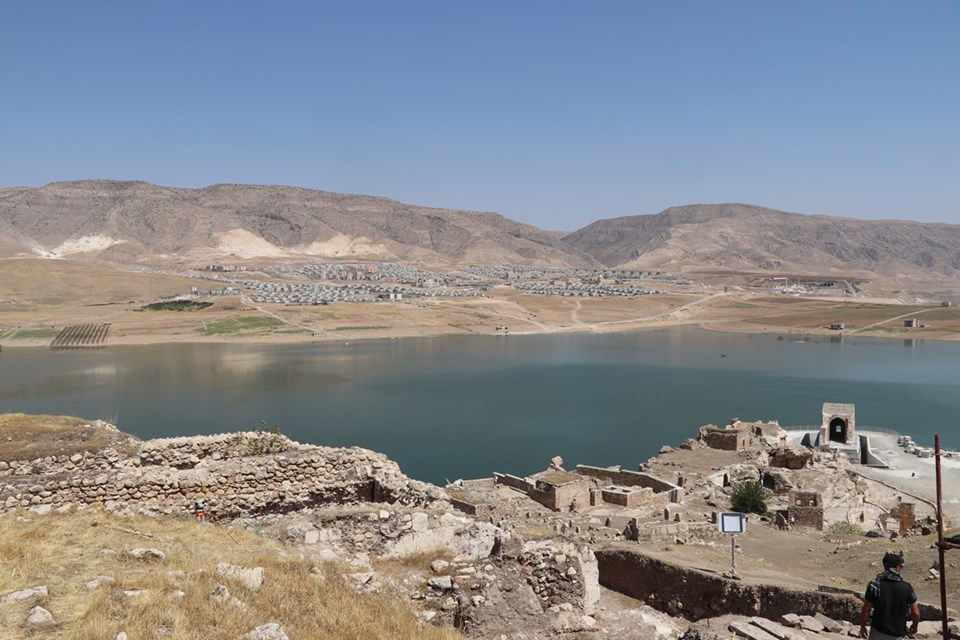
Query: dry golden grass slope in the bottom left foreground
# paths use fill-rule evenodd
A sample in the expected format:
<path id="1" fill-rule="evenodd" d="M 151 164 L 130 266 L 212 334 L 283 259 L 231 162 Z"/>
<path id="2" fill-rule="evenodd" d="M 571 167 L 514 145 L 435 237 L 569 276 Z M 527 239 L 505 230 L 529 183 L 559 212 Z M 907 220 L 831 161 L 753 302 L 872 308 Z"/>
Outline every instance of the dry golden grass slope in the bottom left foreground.
<path id="1" fill-rule="evenodd" d="M 331 564 L 315 567 L 294 550 L 251 531 L 189 519 L 120 518 L 98 509 L 71 514 L 0 517 L 0 594 L 46 585 L 50 595 L 0 604 L 0 629 L 9 640 L 151 638 L 166 628 L 172 639 L 242 637 L 277 622 L 291 638 L 420 638 L 453 640 L 452 629 L 423 626 L 406 601 L 392 594 L 359 594 Z M 142 562 L 125 555 L 153 547 L 166 559 Z M 251 591 L 216 574 L 219 562 L 266 569 L 267 582 Z M 84 583 L 110 576 L 89 590 Z M 242 605 L 220 603 L 210 593 L 225 584 Z M 145 590 L 128 596 L 124 591 Z M 178 592 L 182 592 L 180 595 Z M 35 604 L 50 610 L 57 626 L 40 635 L 22 626 Z"/>

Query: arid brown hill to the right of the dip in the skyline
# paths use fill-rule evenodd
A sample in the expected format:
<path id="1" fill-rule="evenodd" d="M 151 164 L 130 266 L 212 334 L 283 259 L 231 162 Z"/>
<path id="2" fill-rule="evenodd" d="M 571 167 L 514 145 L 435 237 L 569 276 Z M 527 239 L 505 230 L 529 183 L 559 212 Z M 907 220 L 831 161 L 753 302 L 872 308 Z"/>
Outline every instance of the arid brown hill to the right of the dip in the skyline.
<path id="1" fill-rule="evenodd" d="M 955 276 L 960 225 L 784 213 L 745 204 L 599 220 L 563 241 L 607 267 Z"/>

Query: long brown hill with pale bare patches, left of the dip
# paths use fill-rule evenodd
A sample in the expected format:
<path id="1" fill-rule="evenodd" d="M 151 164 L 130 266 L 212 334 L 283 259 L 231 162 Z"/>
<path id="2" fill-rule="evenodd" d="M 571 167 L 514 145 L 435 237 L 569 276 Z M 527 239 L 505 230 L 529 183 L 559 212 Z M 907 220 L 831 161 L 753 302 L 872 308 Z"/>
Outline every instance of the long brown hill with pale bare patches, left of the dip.
<path id="1" fill-rule="evenodd" d="M 596 265 L 561 237 L 494 213 L 293 187 L 87 180 L 0 190 L 7 257 Z"/>

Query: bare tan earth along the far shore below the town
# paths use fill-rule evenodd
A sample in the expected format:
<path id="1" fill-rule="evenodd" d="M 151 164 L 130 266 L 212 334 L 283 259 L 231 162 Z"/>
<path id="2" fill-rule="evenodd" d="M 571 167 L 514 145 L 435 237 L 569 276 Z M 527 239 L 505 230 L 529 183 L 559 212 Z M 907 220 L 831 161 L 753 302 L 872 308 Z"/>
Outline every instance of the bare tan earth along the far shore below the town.
<path id="1" fill-rule="evenodd" d="M 509 284 L 474 297 L 293 306 L 207 289 L 195 272 L 158 273 L 60 260 L 0 261 L 0 347 L 48 346 L 68 325 L 110 323 L 107 344 L 311 342 L 439 335 L 625 332 L 668 326 L 804 335 L 960 338 L 960 308 L 864 285 L 857 296 L 786 295 L 770 288 L 652 282 L 662 294 L 635 297 L 537 295 Z M 150 311 L 172 297 L 202 310 Z M 916 318 L 921 326 L 905 328 Z M 842 322 L 842 330 L 829 325 Z"/>

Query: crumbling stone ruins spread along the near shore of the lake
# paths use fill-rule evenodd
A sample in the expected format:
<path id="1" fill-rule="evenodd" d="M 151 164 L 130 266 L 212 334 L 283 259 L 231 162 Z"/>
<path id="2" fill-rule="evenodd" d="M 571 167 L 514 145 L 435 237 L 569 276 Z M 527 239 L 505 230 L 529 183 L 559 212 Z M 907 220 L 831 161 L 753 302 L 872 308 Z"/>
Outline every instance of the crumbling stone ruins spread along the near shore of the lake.
<path id="1" fill-rule="evenodd" d="M 424 621 L 469 637 L 539 639 L 622 623 L 624 632 L 644 631 L 617 637 L 678 638 L 689 628 L 687 640 L 713 640 L 729 635 L 691 623 L 734 615 L 723 628 L 737 626 L 740 637 L 765 638 L 786 625 L 792 631 L 775 637 L 829 638 L 843 630 L 833 619 L 855 619 L 859 602 L 848 591 L 741 583 L 653 552 L 729 545 L 718 514 L 746 481 L 767 490 L 772 516 L 750 517 L 767 536 L 837 522 L 883 539 L 929 533 L 928 503 L 865 477 L 843 448 L 864 438 L 854 433 L 852 405 L 824 405 L 824 416 L 833 438 L 735 419 L 663 447 L 636 470 L 579 464 L 568 471 L 557 457 L 528 477 L 494 473 L 442 489 L 406 477 L 380 453 L 303 445 L 273 432 L 130 438 L 102 451 L 0 461 L 0 515 L 99 506 L 189 518 L 202 505 L 211 521 L 281 523 L 303 557 L 344 563 L 360 591 L 400 589 Z M 436 558 L 431 575 L 404 585 L 378 577 L 370 562 L 424 555 Z M 673 622 L 618 623 L 619 614 L 598 608 L 601 586 Z M 815 613 L 832 626 L 801 621 Z"/>

